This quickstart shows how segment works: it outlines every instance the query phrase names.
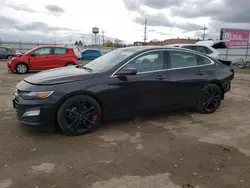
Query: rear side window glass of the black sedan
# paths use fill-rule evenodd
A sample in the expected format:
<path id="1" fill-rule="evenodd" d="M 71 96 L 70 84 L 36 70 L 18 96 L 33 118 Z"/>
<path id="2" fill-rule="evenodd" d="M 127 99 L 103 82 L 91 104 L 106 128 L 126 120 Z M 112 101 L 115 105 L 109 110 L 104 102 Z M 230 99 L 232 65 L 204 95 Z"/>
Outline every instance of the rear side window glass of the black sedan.
<path id="1" fill-rule="evenodd" d="M 210 60 L 189 52 L 169 51 L 170 68 L 184 68 L 210 64 Z"/>

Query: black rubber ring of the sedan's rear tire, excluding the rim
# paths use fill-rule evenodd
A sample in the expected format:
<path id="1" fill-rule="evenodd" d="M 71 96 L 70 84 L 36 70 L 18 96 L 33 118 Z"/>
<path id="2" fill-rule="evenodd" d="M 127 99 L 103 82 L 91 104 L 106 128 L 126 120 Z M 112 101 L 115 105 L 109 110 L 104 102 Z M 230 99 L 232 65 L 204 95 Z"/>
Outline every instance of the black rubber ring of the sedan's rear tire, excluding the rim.
<path id="1" fill-rule="evenodd" d="M 198 101 L 198 105 L 197 105 L 197 110 L 198 110 L 200 113 L 202 113 L 202 114 L 211 114 L 211 113 L 214 113 L 214 112 L 220 107 L 220 104 L 221 104 L 221 99 L 220 99 L 217 108 L 215 108 L 215 109 L 214 109 L 213 111 L 211 111 L 211 112 L 208 112 L 208 111 L 204 108 L 204 106 L 202 105 L 202 103 L 203 103 L 203 99 L 204 99 L 205 92 L 206 92 L 209 88 L 214 88 L 214 89 L 216 89 L 216 90 L 219 92 L 220 98 L 222 99 L 222 91 L 221 91 L 221 89 L 220 89 L 219 86 L 217 86 L 216 84 L 209 84 L 209 85 L 207 85 L 206 87 L 204 87 L 204 89 L 203 89 L 202 92 L 201 92 L 201 97 L 200 97 L 200 99 L 199 99 L 199 101 Z"/>

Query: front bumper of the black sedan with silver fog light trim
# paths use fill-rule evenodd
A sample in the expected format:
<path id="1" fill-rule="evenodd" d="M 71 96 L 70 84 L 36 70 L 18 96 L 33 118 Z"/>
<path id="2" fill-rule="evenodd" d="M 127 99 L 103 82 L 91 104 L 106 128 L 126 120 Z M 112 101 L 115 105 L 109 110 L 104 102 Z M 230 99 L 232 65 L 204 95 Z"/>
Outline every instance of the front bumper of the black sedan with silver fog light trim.
<path id="1" fill-rule="evenodd" d="M 53 127 L 55 123 L 55 108 L 52 104 L 29 104 L 28 100 L 13 98 L 13 108 L 21 124 L 37 127 Z"/>

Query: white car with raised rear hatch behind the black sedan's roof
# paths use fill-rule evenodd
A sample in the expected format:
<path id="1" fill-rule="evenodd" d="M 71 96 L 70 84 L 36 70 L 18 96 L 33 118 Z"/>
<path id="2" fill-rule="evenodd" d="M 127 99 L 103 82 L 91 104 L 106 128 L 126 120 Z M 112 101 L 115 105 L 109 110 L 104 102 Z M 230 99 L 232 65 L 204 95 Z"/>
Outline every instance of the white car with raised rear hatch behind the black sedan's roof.
<path id="1" fill-rule="evenodd" d="M 220 53 L 216 49 L 225 49 L 227 48 L 224 41 L 213 41 L 213 40 L 207 40 L 207 41 L 198 41 L 195 44 L 169 44 L 166 46 L 172 46 L 172 47 L 180 47 L 180 48 L 187 48 L 190 50 L 195 50 L 201 53 L 204 53 L 210 57 L 213 57 L 215 59 L 224 60 L 220 56 Z"/>

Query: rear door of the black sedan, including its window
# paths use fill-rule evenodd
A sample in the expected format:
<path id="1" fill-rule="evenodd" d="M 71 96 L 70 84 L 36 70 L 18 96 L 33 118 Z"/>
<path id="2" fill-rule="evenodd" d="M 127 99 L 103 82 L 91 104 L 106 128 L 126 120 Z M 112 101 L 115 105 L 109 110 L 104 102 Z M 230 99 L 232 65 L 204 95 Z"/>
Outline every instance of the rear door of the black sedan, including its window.
<path id="1" fill-rule="evenodd" d="M 168 50 L 168 82 L 171 98 L 178 106 L 192 106 L 213 75 L 213 62 L 192 52 Z"/>

